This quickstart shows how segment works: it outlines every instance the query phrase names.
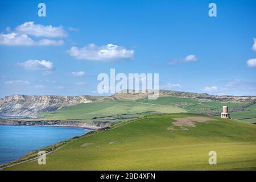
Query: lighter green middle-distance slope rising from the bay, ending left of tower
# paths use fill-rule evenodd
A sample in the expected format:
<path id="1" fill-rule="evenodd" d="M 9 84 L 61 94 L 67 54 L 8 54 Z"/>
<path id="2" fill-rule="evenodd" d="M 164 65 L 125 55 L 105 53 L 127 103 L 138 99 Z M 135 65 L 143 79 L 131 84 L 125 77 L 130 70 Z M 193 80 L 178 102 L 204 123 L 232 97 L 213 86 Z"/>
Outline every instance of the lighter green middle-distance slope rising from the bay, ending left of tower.
<path id="1" fill-rule="evenodd" d="M 180 113 L 184 109 L 175 106 L 155 106 L 133 101 L 94 102 L 69 106 L 53 113 L 43 113 L 44 119 L 92 119 L 117 114 L 138 114 L 155 111 L 157 113 Z"/>

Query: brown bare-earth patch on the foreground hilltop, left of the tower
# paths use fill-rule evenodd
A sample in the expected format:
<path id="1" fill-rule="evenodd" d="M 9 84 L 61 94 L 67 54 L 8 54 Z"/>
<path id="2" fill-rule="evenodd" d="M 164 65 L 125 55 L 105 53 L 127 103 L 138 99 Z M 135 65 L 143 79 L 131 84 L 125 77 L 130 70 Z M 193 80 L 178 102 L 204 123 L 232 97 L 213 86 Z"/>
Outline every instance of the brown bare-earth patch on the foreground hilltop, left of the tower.
<path id="1" fill-rule="evenodd" d="M 173 118 L 175 122 L 172 122 L 171 127 L 167 130 L 177 130 L 175 128 L 179 127 L 180 130 L 189 130 L 190 127 L 196 127 L 196 122 L 204 123 L 208 121 L 216 121 L 217 119 L 207 118 L 207 117 L 184 117 L 184 118 Z"/>

